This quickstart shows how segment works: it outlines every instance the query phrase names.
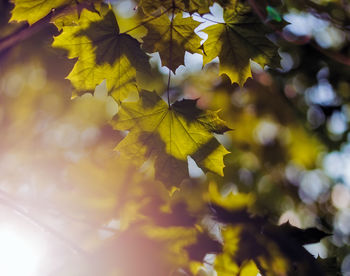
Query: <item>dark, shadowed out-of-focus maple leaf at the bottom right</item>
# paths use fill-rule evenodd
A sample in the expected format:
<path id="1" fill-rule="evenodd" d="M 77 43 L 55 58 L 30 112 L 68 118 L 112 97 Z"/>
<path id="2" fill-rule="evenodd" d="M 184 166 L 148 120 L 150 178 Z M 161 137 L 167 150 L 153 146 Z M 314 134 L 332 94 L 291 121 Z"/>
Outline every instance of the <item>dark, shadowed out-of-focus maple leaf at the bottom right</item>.
<path id="1" fill-rule="evenodd" d="M 265 259 L 268 263 L 271 262 L 270 267 L 273 267 L 273 262 L 283 261 L 286 266 L 281 268 L 286 270 L 285 272 L 291 268 L 287 265 L 289 262 L 293 264 L 293 268 L 295 267 L 293 270 L 295 275 L 310 275 L 313 271 L 317 272 L 317 275 L 324 275 L 314 257 L 303 245 L 319 242 L 328 234 L 316 228 L 299 229 L 289 223 L 277 226 L 269 223 L 265 218 L 252 217 L 245 209 L 228 210 L 215 204 L 212 204 L 211 208 L 215 212 L 216 219 L 228 226 L 222 232 L 224 254 L 219 256 L 219 261 L 223 262 L 225 258 L 229 259 L 230 255 L 238 264 L 242 264 L 246 260 L 254 260 L 260 273 L 264 275 L 264 270 L 267 267 L 263 268 L 261 260 Z M 230 241 L 225 241 L 225 235 Z M 273 247 L 275 250 L 268 250 Z M 218 265 L 222 265 L 222 263 Z M 281 274 L 282 271 L 276 272 L 273 275 Z"/>

